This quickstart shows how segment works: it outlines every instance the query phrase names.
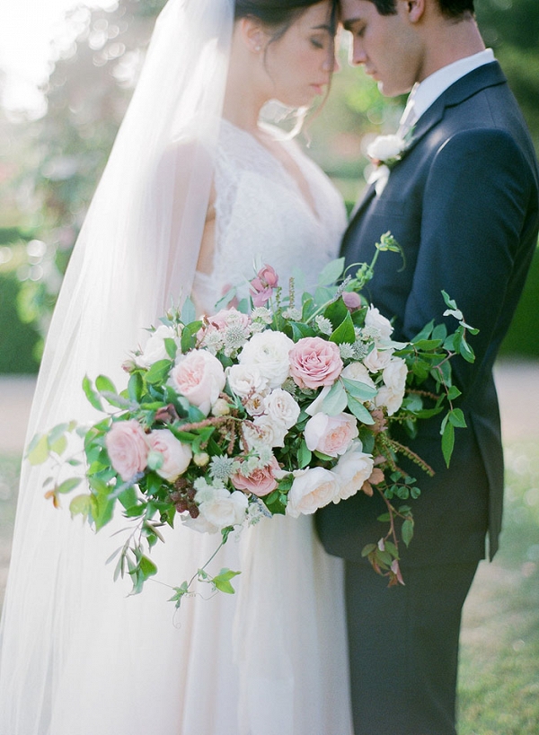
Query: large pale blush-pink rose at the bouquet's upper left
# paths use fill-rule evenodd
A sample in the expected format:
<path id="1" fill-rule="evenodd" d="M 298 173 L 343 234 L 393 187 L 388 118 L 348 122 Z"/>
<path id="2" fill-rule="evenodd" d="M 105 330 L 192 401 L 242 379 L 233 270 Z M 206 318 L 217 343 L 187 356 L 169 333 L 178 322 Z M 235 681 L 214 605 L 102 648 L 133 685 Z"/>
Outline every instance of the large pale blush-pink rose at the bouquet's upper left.
<path id="1" fill-rule="evenodd" d="M 225 371 L 217 358 L 207 350 L 193 350 L 172 368 L 172 388 L 185 396 L 205 416 L 219 393 L 225 388 Z"/>

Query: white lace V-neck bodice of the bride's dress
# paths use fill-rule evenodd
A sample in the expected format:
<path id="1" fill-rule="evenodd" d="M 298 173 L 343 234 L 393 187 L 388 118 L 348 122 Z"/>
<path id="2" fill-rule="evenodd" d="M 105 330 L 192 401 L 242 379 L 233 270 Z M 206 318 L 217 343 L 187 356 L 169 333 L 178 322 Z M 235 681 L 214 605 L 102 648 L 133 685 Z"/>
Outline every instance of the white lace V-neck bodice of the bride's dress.
<path id="1" fill-rule="evenodd" d="M 339 193 L 294 141 L 283 141 L 314 202 L 250 133 L 223 120 L 216 157 L 216 249 L 210 276 L 197 273 L 198 302 L 211 311 L 227 285 L 245 284 L 268 263 L 286 285 L 296 269 L 305 287 L 336 258 L 346 214 Z M 243 294 L 247 293 L 246 286 Z"/>

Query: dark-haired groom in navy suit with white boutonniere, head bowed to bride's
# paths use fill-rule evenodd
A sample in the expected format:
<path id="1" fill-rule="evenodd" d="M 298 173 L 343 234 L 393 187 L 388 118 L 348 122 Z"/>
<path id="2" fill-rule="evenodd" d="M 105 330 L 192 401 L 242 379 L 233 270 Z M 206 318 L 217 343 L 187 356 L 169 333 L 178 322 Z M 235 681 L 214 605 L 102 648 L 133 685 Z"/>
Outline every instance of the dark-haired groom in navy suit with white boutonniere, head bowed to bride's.
<path id="1" fill-rule="evenodd" d="M 537 242 L 537 163 L 507 81 L 482 43 L 473 0 L 340 6 L 353 63 L 384 95 L 411 91 L 402 120 L 411 129 L 407 148 L 358 205 L 343 242 L 347 263 L 370 262 L 374 243 L 390 230 L 404 266 L 384 254 L 368 295 L 393 319 L 393 338 L 414 337 L 430 319 L 447 321 L 442 289 L 480 333 L 470 338 L 475 363 L 453 361 L 463 392 L 455 406 L 468 428 L 456 432 L 451 467 L 441 454 L 439 417 L 423 422 L 413 441 L 402 439 L 436 470 L 428 478 L 399 458 L 422 491 L 415 536 L 402 550 L 405 586 L 387 589 L 361 558 L 384 528 L 376 521 L 381 499 L 359 493 L 323 509 L 317 522 L 326 549 L 346 560 L 355 735 L 455 735 L 461 610 L 487 532 L 491 557 L 501 524 L 492 363 Z"/>

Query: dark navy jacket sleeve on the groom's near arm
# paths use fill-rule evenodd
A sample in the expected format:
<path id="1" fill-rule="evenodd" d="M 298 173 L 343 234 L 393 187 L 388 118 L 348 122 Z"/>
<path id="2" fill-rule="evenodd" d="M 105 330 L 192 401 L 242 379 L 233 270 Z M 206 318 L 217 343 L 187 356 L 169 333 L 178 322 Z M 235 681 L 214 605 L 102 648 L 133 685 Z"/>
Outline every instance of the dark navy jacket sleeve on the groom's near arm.
<path id="1" fill-rule="evenodd" d="M 403 333 L 411 338 L 430 319 L 443 320 L 442 289 L 455 299 L 466 322 L 480 329 L 470 338 L 476 362 L 454 361 L 461 389 L 473 382 L 508 308 L 508 287 L 531 196 L 529 166 L 511 136 L 501 130 L 457 133 L 439 148 L 431 164 Z M 450 330 L 455 328 L 455 322 L 445 321 Z"/>

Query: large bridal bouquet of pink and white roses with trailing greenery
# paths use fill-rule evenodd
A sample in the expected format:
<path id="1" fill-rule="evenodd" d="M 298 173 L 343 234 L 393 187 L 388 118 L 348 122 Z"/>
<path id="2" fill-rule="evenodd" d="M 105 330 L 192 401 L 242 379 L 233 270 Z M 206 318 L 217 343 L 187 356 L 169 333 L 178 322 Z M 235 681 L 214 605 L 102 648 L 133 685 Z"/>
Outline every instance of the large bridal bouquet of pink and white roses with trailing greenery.
<path id="1" fill-rule="evenodd" d="M 393 342 L 391 323 L 361 294 L 379 252 L 399 250 L 389 233 L 376 248 L 373 262 L 353 276 L 343 273 L 342 258 L 333 261 L 314 293 L 298 296 L 294 279 L 284 293 L 265 266 L 250 298 L 234 307 L 197 319 L 186 302 L 130 355 L 127 389 L 118 391 L 105 376 L 84 379 L 102 420 L 35 437 L 30 461 L 52 456 L 61 468 L 68 435 L 83 437 L 84 477 L 50 477 L 46 496 L 58 505 L 84 480 L 70 510 L 97 530 L 119 503 L 132 531 L 114 555 L 115 577 L 128 573 L 135 592 L 157 571 L 149 552 L 163 540 L 163 524 L 220 535 L 220 547 L 238 527 L 278 513 L 314 513 L 355 493 L 382 494 L 387 529 L 363 553 L 390 584 L 402 582 L 399 543 L 413 535 L 406 502 L 420 489 L 398 456 L 431 470 L 392 438 L 392 427 L 413 433 L 418 421 L 445 411 L 441 442 L 449 461 L 455 427 L 465 426 L 453 407 L 459 390 L 449 360 L 461 354 L 473 361 L 466 331 L 476 330 L 444 294 L 455 332 L 429 324 L 410 343 Z M 420 389 L 427 379 L 434 392 Z M 177 605 L 197 580 L 234 592 L 239 572 L 212 577 L 206 567 L 174 588 Z"/>

